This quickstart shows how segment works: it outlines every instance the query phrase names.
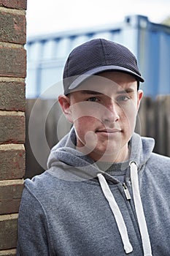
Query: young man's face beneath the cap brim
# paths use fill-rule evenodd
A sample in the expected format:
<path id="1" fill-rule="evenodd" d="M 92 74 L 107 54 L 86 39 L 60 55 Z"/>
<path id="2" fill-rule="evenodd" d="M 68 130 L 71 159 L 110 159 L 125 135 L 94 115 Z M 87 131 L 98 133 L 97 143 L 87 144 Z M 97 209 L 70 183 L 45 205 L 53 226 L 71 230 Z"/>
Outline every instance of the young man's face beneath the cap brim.
<path id="1" fill-rule="evenodd" d="M 67 105 L 77 149 L 95 161 L 128 159 L 128 141 L 141 99 L 135 78 L 123 72 L 103 72 L 85 80 L 70 94 Z"/>

